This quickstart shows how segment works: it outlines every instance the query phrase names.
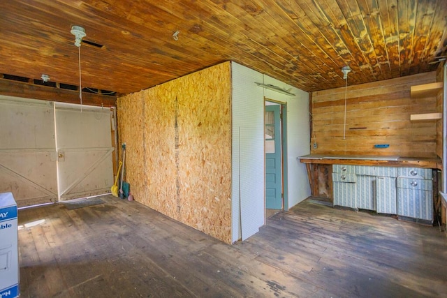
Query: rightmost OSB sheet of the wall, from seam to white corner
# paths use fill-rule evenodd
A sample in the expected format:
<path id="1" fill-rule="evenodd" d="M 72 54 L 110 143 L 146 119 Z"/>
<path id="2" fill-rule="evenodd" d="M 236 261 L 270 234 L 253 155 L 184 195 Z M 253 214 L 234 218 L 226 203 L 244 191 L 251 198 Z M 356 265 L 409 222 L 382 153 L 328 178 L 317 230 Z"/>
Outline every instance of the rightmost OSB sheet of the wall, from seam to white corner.
<path id="1" fill-rule="evenodd" d="M 180 221 L 230 243 L 230 64 L 182 78 L 179 98 Z"/>

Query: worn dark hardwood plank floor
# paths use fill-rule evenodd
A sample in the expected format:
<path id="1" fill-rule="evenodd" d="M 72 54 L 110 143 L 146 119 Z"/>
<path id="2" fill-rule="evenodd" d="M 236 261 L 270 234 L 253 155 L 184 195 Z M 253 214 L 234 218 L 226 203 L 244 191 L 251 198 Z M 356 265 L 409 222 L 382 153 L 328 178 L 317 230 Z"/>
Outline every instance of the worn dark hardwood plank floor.
<path id="1" fill-rule="evenodd" d="M 228 246 L 137 202 L 102 200 L 19 211 L 21 297 L 447 293 L 447 238 L 436 227 L 307 200 Z"/>

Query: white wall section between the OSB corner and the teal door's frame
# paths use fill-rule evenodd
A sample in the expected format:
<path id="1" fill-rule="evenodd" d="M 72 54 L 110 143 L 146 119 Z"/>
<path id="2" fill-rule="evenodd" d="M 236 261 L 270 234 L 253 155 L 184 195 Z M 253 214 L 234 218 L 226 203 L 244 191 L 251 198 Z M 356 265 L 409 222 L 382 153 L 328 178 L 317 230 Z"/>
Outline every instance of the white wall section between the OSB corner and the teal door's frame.
<path id="1" fill-rule="evenodd" d="M 264 100 L 254 82 L 263 75 L 232 66 L 232 240 L 247 239 L 264 224 Z M 242 223 L 242 224 L 241 224 Z"/>

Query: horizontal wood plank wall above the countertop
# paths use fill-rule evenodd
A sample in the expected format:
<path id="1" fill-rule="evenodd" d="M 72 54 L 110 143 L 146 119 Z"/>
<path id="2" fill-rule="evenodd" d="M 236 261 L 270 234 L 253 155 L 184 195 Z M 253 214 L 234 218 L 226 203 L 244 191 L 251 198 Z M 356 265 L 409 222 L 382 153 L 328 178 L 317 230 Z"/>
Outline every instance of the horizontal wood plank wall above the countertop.
<path id="1" fill-rule="evenodd" d="M 435 96 L 411 98 L 411 86 L 435 81 L 431 72 L 348 86 L 345 139 L 345 88 L 313 92 L 311 154 L 436 157 L 437 121 L 410 121 L 411 114 L 437 111 Z"/>

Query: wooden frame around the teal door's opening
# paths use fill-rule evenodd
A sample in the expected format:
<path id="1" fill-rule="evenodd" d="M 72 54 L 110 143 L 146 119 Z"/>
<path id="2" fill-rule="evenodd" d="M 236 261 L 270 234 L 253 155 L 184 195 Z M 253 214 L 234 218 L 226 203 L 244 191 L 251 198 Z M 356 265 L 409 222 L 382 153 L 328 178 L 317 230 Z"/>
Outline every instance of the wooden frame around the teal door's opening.
<path id="1" fill-rule="evenodd" d="M 282 179 L 282 206 L 284 211 L 288 211 L 288 163 L 287 163 L 287 103 L 279 100 L 274 100 L 272 98 L 267 98 L 264 96 L 264 112 L 265 103 L 275 103 L 280 105 L 281 114 L 281 179 Z M 265 119 L 264 119 L 265 127 Z M 265 154 L 264 154 L 264 189 L 265 189 Z M 265 192 L 264 192 L 265 193 Z M 264 209 L 266 206 L 265 195 L 264 195 Z"/>

